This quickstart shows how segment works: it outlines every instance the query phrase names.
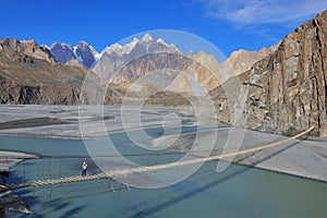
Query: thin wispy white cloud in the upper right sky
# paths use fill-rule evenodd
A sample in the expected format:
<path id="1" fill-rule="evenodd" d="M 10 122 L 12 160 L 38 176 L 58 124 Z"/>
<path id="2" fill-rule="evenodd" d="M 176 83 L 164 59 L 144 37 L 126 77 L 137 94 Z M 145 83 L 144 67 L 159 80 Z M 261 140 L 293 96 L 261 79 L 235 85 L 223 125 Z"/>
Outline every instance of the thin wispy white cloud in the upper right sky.
<path id="1" fill-rule="evenodd" d="M 327 0 L 201 0 L 205 14 L 238 26 L 290 24 L 327 9 Z"/>

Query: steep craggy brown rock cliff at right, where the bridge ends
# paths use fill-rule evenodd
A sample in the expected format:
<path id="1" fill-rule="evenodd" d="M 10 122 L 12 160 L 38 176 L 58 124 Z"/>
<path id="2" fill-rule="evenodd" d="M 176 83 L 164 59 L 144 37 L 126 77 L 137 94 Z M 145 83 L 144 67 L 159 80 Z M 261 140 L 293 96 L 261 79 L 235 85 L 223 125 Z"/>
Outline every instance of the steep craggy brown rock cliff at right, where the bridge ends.
<path id="1" fill-rule="evenodd" d="M 251 70 L 229 80 L 247 94 L 246 126 L 294 134 L 315 125 L 314 135 L 327 136 L 327 12 L 289 34 L 279 48 Z M 239 80 L 239 83 L 238 81 Z M 211 92 L 223 121 L 231 122 L 234 108 L 221 86 Z M 235 88 L 235 96 L 240 88 Z"/>

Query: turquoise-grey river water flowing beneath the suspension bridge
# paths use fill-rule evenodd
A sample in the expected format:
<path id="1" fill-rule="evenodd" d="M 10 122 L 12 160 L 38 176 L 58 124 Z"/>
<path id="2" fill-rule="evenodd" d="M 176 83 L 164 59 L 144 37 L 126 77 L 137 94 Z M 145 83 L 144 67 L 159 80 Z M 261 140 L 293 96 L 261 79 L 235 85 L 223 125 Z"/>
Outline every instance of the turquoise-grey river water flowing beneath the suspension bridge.
<path id="1" fill-rule="evenodd" d="M 160 135 L 158 128 L 147 130 Z M 190 129 L 190 131 L 193 131 Z M 105 136 L 89 138 L 101 142 Z M 111 134 L 121 154 L 133 161 L 157 165 L 182 156 L 169 150 L 147 152 L 135 146 L 125 133 Z M 7 182 L 25 182 L 80 175 L 98 167 L 88 157 L 82 140 L 49 140 L 0 136 L 1 150 L 41 156 L 10 169 Z M 137 156 L 141 154 L 149 154 Z M 114 159 L 114 157 L 108 157 Z M 110 162 L 111 160 L 109 160 Z M 8 211 L 8 217 L 326 217 L 327 185 L 323 182 L 267 170 L 230 165 L 216 171 L 217 161 L 206 162 L 186 180 L 161 189 L 137 189 L 117 181 L 94 180 L 14 192 L 33 215 Z M 180 169 L 183 170 L 183 169 Z"/>

